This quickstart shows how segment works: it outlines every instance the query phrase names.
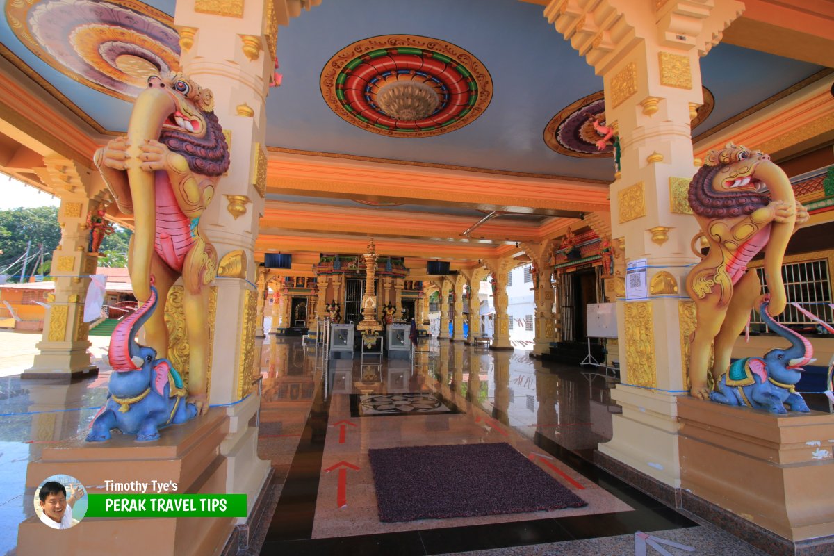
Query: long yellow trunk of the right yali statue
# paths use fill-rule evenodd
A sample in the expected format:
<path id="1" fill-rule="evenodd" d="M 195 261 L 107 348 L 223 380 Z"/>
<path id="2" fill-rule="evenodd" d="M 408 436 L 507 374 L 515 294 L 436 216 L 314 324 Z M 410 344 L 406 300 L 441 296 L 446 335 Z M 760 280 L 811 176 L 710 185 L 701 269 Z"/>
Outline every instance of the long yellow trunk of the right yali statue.
<path id="1" fill-rule="evenodd" d="M 791 209 L 794 208 L 796 205 L 796 197 L 793 193 L 793 186 L 791 186 L 791 180 L 788 179 L 787 174 L 781 168 L 767 159 L 759 163 L 754 176 L 756 179 L 767 184 L 773 201 L 782 201 L 791 207 Z M 786 218 L 785 222 L 772 223 L 771 238 L 767 243 L 764 263 L 765 281 L 767 283 L 767 291 L 771 295 L 769 310 L 775 317 L 779 316 L 785 310 L 787 304 L 781 266 L 782 260 L 785 257 L 785 249 L 787 248 L 788 241 L 791 239 L 795 224 L 796 213 Z"/>

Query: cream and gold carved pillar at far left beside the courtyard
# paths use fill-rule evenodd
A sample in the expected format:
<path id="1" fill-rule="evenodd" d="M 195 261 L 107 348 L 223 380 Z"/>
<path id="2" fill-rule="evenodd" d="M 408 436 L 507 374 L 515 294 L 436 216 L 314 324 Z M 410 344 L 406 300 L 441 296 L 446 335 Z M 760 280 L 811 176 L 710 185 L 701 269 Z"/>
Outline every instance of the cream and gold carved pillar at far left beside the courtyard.
<path id="1" fill-rule="evenodd" d="M 55 293 L 43 320 L 43 337 L 38 343 L 31 368 L 23 378 L 66 378 L 96 373 L 87 348 L 88 324 L 83 322 L 84 300 L 90 274 L 96 273 L 98 258 L 88 253 L 88 213 L 98 210 L 103 182 L 92 172 L 68 158 L 57 155 L 43 159 L 45 168 L 34 168 L 41 179 L 51 183 L 61 198 L 58 222 L 61 243 L 53 251 L 50 273 Z"/>

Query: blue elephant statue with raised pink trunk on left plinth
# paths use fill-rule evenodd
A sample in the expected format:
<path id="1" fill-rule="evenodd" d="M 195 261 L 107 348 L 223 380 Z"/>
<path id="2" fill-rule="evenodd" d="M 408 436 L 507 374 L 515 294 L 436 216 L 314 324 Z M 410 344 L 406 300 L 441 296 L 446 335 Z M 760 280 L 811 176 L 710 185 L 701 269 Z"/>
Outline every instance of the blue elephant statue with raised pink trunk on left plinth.
<path id="1" fill-rule="evenodd" d="M 159 428 L 185 423 L 197 415 L 194 404 L 185 401 L 183 379 L 168 359 L 158 359 L 153 348 L 136 343 L 139 328 L 156 308 L 157 295 L 151 287 L 148 301 L 113 330 L 108 400 L 93 419 L 87 442 L 108 440 L 113 428 L 135 434 L 138 442 L 157 440 Z"/>

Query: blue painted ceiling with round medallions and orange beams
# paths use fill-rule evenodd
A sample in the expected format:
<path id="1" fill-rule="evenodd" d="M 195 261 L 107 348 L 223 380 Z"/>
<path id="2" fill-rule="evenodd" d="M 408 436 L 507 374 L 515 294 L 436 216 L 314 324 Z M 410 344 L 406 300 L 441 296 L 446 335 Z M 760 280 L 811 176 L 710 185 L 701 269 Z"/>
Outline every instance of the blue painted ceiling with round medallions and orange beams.
<path id="1" fill-rule="evenodd" d="M 390 228 L 399 238 L 392 245 L 423 238 L 425 246 L 409 253 L 429 254 L 436 241 L 465 247 L 473 240 L 460 234 L 496 209 L 525 215 L 490 220 L 475 236 L 478 249 L 535 240 L 585 206 L 598 210 L 614 173 L 589 120 L 604 119 L 602 81 L 537 4 L 324 0 L 280 28 L 283 82 L 267 100 L 266 143 L 271 171 L 280 168 L 282 178 L 270 185 L 267 234 L 284 243 L 333 238 L 334 218 L 349 214 L 342 236 Z M 0 22 L 0 54 L 91 128 L 123 133 L 148 73 L 178 69 L 174 8 L 174 0 L 13 0 Z M 701 60 L 705 103 L 693 135 L 763 108 L 821 69 L 718 45 Z M 357 194 L 344 182 L 330 188 L 341 193 L 311 198 L 296 188 L 303 173 L 285 172 L 299 158 L 319 161 L 309 173 L 339 168 L 376 189 Z M 403 193 L 409 188 L 398 180 L 413 168 L 429 168 L 419 180 L 448 191 Z M 564 190 L 546 198 L 549 183 Z M 565 194 L 570 188 L 575 193 Z M 374 211 L 409 228 L 386 228 L 382 219 L 363 231 L 359 224 Z M 282 225 L 279 214 L 293 224 Z"/>

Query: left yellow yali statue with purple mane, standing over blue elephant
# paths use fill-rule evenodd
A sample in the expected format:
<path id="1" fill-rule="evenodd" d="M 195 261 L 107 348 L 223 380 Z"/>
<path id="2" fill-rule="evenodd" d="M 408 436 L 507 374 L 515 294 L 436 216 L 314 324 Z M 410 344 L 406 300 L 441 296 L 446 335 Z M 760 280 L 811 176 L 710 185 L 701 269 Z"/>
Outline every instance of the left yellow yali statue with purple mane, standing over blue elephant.
<path id="1" fill-rule="evenodd" d="M 229 168 L 229 148 L 213 109 L 211 91 L 181 74 L 151 76 L 133 105 L 127 135 L 94 157 L 119 210 L 133 214 L 128 267 L 140 302 L 150 298 L 155 278 L 158 307 L 145 332 L 160 358 L 168 353 L 168 289 L 183 278 L 188 401 L 201 414 L 208 411 L 206 308 L 217 253 L 200 232 L 199 218 Z"/>

